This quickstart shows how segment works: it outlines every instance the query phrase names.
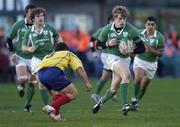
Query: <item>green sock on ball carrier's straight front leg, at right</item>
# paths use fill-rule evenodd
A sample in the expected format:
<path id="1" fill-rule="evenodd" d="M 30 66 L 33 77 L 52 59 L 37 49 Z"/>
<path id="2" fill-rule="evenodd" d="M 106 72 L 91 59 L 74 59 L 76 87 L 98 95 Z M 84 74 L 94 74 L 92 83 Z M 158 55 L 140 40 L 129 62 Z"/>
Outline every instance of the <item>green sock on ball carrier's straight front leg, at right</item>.
<path id="1" fill-rule="evenodd" d="M 121 99 L 122 99 L 122 104 L 125 105 L 128 103 L 128 83 L 123 83 L 120 85 L 120 91 L 121 91 Z"/>

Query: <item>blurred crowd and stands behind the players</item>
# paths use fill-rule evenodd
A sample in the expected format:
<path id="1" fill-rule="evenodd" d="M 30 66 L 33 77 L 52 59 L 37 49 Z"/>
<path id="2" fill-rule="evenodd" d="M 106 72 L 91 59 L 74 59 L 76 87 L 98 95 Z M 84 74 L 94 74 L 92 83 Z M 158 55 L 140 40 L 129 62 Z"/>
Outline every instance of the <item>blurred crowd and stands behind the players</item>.
<path id="1" fill-rule="evenodd" d="M 115 5 L 130 11 L 128 22 L 138 29 L 147 16 L 157 18 L 157 30 L 164 34 L 165 50 L 160 58 L 157 78 L 180 77 L 180 0 L 0 0 L 0 82 L 14 82 L 14 66 L 9 61 L 6 36 L 12 24 L 23 19 L 27 4 L 47 10 L 46 22 L 52 24 L 83 61 L 88 75 L 98 78 L 102 72 L 99 58 L 93 58 L 89 40 L 93 32 L 107 24 Z M 76 77 L 71 70 L 69 76 Z"/>

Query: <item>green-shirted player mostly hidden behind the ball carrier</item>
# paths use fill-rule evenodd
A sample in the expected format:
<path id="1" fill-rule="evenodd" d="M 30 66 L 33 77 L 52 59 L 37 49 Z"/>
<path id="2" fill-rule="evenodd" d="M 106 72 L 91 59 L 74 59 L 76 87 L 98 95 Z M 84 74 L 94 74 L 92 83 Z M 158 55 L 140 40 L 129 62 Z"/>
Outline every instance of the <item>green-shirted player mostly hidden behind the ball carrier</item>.
<path id="1" fill-rule="evenodd" d="M 114 22 L 114 19 L 112 16 L 108 17 L 108 24 Z M 98 36 L 101 33 L 102 28 L 99 28 L 91 37 L 90 39 L 90 47 L 91 47 L 91 51 L 93 53 L 93 57 L 97 57 L 98 53 L 96 51 L 96 41 L 98 40 Z M 103 64 L 103 71 L 102 71 L 102 75 L 101 78 L 98 80 L 97 85 L 96 85 L 96 89 L 94 91 L 94 93 L 91 95 L 91 98 L 94 100 L 95 103 L 97 103 L 100 99 L 100 92 L 102 90 L 102 88 L 104 87 L 106 81 L 111 77 L 112 71 L 110 70 L 110 68 L 107 65 L 107 59 L 108 57 L 108 49 L 103 49 L 101 50 L 101 62 Z M 117 101 L 117 96 L 114 95 L 112 97 L 112 100 Z"/>

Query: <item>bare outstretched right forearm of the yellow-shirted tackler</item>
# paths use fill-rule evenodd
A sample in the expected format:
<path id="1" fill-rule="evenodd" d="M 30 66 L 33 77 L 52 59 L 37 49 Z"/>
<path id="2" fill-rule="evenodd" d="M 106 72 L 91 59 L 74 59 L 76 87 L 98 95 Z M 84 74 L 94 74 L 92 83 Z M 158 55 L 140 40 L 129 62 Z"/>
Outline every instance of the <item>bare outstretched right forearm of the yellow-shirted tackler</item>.
<path id="1" fill-rule="evenodd" d="M 78 69 L 76 69 L 76 72 L 78 73 L 78 75 L 84 80 L 85 82 L 85 87 L 87 91 L 90 91 L 92 89 L 92 85 L 87 77 L 87 74 L 84 70 L 83 67 L 79 67 Z"/>

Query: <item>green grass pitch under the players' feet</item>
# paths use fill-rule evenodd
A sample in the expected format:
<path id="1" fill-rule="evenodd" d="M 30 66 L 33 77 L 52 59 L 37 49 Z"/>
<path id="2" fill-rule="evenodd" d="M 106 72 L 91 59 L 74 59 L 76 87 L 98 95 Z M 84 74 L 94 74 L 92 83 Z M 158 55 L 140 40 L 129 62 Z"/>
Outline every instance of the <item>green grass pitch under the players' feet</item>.
<path id="1" fill-rule="evenodd" d="M 62 107 L 64 122 L 53 122 L 42 112 L 38 90 L 32 102 L 33 113 L 27 113 L 23 111 L 24 98 L 18 96 L 15 84 L 1 84 L 0 127 L 180 127 L 180 80 L 152 81 L 140 103 L 140 111 L 129 112 L 128 116 L 120 111 L 119 93 L 118 102 L 109 100 L 97 114 L 92 114 L 91 93 L 84 91 L 82 83 L 74 83 L 79 98 Z M 132 85 L 129 86 L 129 98 L 131 95 Z"/>

